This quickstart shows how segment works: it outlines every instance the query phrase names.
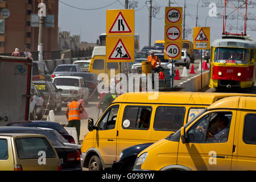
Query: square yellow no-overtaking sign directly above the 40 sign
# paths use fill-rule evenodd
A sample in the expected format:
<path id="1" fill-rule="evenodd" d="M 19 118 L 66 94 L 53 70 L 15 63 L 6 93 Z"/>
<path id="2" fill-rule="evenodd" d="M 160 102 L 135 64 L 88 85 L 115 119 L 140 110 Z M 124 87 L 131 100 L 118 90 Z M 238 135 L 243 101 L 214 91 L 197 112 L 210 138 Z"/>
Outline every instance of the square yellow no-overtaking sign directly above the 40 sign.
<path id="1" fill-rule="evenodd" d="M 164 26 L 164 42 L 181 42 L 181 25 L 166 24 Z"/>

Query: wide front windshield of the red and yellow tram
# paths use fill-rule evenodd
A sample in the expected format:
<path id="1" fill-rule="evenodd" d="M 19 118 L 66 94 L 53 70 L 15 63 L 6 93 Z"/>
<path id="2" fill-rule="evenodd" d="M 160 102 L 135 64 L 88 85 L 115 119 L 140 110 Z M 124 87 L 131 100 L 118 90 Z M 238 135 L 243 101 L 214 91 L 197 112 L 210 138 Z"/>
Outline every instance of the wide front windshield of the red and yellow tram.
<path id="1" fill-rule="evenodd" d="M 217 47 L 214 51 L 215 63 L 249 63 L 249 50 L 243 48 Z"/>

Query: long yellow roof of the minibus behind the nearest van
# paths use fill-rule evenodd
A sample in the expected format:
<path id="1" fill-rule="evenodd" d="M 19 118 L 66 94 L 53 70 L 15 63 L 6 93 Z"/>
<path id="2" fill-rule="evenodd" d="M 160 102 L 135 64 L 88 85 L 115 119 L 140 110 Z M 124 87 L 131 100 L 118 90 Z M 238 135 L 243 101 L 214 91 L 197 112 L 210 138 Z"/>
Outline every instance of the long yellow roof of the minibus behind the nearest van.
<path id="1" fill-rule="evenodd" d="M 251 96 L 256 94 L 242 93 L 209 93 L 209 92 L 140 92 L 125 93 L 117 97 L 114 103 L 145 103 L 145 104 L 196 104 L 211 105 L 213 102 L 230 96 Z"/>

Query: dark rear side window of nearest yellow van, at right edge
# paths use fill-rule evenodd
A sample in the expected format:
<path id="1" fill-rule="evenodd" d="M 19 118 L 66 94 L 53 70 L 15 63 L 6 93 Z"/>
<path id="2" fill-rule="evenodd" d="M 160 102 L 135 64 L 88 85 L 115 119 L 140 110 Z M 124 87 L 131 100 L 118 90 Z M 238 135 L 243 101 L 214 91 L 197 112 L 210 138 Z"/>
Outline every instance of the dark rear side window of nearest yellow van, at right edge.
<path id="1" fill-rule="evenodd" d="M 245 126 L 243 127 L 243 142 L 256 144 L 256 114 L 245 116 Z"/>

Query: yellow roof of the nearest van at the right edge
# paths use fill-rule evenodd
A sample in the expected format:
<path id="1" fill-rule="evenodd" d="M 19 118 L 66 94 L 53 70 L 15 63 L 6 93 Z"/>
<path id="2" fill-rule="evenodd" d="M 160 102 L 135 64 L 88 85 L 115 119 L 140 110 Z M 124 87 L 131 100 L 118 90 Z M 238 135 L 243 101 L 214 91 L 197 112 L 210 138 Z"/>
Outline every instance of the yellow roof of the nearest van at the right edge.
<path id="1" fill-rule="evenodd" d="M 256 94 L 253 97 L 237 96 L 237 97 L 228 97 L 220 101 L 215 102 L 214 104 L 208 107 L 208 110 L 212 109 L 248 109 L 256 110 Z"/>

